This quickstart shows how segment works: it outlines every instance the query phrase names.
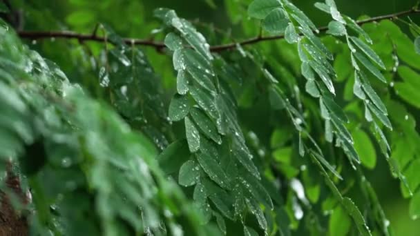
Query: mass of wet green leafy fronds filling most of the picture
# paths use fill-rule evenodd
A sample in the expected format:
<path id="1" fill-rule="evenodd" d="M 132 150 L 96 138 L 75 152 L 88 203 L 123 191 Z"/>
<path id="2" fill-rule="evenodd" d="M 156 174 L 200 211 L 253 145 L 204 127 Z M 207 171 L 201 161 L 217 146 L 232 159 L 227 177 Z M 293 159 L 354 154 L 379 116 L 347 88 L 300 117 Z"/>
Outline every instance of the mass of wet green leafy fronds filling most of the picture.
<path id="1" fill-rule="evenodd" d="M 71 4 L 86 7 L 63 19 L 77 30 L 103 19 Z M 99 23 L 99 42 L 60 41 L 63 57 L 1 22 L 0 163 L 12 161 L 32 193 L 18 207 L 33 235 L 392 235 L 366 169 L 398 178 L 404 210 L 419 217 L 414 21 L 401 20 L 412 39 L 334 0 L 315 4 L 325 28 L 289 0 L 198 4 L 226 10 L 233 34 L 257 36 L 236 43 L 157 8 L 135 26 L 162 44 Z"/>

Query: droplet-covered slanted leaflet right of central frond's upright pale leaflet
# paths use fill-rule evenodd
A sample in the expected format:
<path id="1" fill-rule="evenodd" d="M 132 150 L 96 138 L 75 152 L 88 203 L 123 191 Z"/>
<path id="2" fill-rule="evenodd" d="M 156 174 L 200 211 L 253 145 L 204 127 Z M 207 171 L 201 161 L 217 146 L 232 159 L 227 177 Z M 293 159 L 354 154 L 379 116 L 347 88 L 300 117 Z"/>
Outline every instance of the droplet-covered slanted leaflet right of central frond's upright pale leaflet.
<path id="1" fill-rule="evenodd" d="M 222 144 L 222 139 L 218 134 L 218 130 L 215 124 L 213 124 L 213 121 L 211 121 L 211 119 L 207 117 L 207 115 L 202 112 L 202 110 L 199 108 L 192 108 L 191 117 L 193 117 L 195 124 L 198 125 L 198 128 L 200 128 L 204 135 L 215 141 L 216 144 Z"/>

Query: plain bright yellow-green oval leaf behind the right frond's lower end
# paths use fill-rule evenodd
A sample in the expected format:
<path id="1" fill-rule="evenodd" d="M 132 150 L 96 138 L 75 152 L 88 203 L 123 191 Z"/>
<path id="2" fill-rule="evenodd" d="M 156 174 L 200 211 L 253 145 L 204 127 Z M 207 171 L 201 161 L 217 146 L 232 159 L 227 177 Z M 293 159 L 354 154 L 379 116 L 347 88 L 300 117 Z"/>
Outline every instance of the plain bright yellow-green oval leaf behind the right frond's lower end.
<path id="1" fill-rule="evenodd" d="M 354 148 L 359 154 L 363 166 L 373 169 L 376 166 L 376 150 L 370 140 L 370 137 L 361 130 L 354 130 L 352 132 L 354 139 Z"/>

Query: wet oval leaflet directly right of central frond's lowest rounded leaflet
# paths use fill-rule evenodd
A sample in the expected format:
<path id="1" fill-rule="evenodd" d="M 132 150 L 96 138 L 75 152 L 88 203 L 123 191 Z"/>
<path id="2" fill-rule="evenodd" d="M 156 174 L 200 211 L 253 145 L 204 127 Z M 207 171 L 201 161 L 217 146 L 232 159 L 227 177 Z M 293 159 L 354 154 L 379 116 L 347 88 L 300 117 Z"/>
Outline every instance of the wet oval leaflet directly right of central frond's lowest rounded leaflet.
<path id="1" fill-rule="evenodd" d="M 204 172 L 209 175 L 211 180 L 215 181 L 222 188 L 230 188 L 229 178 L 213 157 L 209 156 L 207 153 L 197 153 L 195 157 L 197 157 L 198 163 L 200 163 L 200 166 Z"/>

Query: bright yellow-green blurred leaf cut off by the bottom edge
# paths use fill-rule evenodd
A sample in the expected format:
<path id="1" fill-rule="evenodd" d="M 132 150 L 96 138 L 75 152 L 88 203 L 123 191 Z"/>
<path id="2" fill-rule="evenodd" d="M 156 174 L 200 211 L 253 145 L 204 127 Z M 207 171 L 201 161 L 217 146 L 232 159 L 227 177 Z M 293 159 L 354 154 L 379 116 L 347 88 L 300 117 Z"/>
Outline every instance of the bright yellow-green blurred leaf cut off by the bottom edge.
<path id="1" fill-rule="evenodd" d="M 330 216 L 330 223 L 328 224 L 329 233 L 331 235 L 347 235 L 352 226 L 352 220 L 349 215 L 341 208 L 337 206 Z"/>

